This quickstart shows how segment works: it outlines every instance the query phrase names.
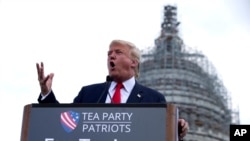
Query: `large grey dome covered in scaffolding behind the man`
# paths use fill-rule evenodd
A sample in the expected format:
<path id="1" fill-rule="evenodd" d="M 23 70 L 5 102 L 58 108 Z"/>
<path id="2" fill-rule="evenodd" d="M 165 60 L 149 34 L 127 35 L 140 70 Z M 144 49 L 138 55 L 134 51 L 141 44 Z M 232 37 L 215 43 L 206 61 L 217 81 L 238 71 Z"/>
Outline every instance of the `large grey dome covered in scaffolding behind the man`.
<path id="1" fill-rule="evenodd" d="M 212 63 L 178 36 L 179 24 L 177 8 L 165 6 L 155 46 L 142 51 L 138 81 L 179 107 L 190 126 L 186 141 L 228 141 L 229 125 L 239 122 L 237 111 Z"/>

